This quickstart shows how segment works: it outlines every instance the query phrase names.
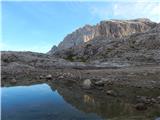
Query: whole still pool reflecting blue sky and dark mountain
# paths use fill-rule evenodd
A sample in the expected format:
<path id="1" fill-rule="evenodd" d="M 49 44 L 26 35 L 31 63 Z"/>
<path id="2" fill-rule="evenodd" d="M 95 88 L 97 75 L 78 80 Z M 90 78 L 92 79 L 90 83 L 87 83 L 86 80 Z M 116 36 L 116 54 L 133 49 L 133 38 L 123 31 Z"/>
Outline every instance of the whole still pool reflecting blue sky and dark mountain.
<path id="1" fill-rule="evenodd" d="M 129 100 L 47 83 L 2 88 L 2 120 L 150 120 L 157 109 L 137 111 Z"/>

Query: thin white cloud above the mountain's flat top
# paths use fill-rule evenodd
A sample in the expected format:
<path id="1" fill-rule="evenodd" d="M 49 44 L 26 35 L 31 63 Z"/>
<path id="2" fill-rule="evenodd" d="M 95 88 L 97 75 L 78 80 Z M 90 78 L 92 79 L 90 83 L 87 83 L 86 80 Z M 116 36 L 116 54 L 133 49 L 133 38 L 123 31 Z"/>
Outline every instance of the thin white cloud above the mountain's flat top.
<path id="1" fill-rule="evenodd" d="M 104 4 L 106 5 L 92 6 L 91 14 L 101 19 L 149 18 L 160 22 L 160 2 L 141 0 L 137 2 L 106 2 Z"/>

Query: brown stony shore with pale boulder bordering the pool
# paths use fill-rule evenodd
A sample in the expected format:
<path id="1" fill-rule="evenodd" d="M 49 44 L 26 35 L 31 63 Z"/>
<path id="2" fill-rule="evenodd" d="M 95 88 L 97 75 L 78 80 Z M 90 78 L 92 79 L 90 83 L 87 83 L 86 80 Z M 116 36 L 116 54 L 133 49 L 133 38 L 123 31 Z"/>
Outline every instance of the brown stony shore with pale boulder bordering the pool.
<path id="1" fill-rule="evenodd" d="M 37 69 L 13 75 L 2 72 L 1 85 L 4 87 L 38 83 L 60 85 L 73 91 L 130 100 L 133 108 L 138 111 L 146 111 L 155 106 L 156 109 L 160 109 L 159 66 Z"/>

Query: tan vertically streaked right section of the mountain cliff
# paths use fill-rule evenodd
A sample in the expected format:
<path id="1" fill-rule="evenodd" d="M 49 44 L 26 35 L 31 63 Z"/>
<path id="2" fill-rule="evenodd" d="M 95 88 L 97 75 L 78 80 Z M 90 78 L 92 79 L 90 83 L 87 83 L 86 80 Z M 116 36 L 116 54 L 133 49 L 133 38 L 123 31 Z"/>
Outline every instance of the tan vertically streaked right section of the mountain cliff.
<path id="1" fill-rule="evenodd" d="M 144 32 L 155 24 L 148 19 L 101 21 L 99 32 L 101 36 L 121 38 L 133 33 Z"/>

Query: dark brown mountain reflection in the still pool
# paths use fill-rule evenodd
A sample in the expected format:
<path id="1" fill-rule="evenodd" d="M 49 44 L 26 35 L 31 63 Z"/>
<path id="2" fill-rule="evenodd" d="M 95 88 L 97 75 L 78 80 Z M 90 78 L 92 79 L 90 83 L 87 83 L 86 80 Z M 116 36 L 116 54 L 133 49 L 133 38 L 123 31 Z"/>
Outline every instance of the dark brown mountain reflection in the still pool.
<path id="1" fill-rule="evenodd" d="M 77 81 L 79 84 L 80 81 Z M 63 96 L 65 101 L 70 103 L 72 106 L 77 109 L 86 112 L 86 113 L 96 113 L 102 118 L 120 118 L 120 116 L 128 116 L 133 117 L 137 116 L 138 110 L 145 110 L 145 113 L 139 113 L 140 116 L 144 116 L 144 114 L 148 114 L 149 116 L 154 116 L 155 112 L 158 111 L 159 108 L 151 109 L 150 106 L 145 103 L 141 105 L 139 103 L 134 103 L 137 93 L 132 91 L 133 88 L 126 88 L 127 96 L 112 96 L 112 93 L 115 94 L 114 90 L 108 90 L 111 95 L 104 95 L 103 91 L 99 91 L 97 89 L 88 89 L 84 90 L 81 86 L 77 85 L 77 83 L 68 83 L 67 81 L 62 82 L 55 81 L 54 83 L 49 83 L 51 87 L 56 89 L 58 93 Z M 124 91 L 120 88 L 121 91 Z M 137 89 L 137 88 L 136 88 Z M 121 93 L 121 91 L 119 91 Z M 137 90 L 135 90 L 137 91 Z M 142 92 L 142 91 L 140 91 Z M 147 93 L 147 92 L 146 92 Z M 140 93 L 139 93 L 140 94 Z M 151 93 L 152 94 L 152 93 Z M 135 105 L 134 105 L 135 104 Z M 136 110 L 137 109 L 137 110 Z M 159 112 L 157 114 L 160 114 Z M 126 118 L 126 117 L 125 117 Z M 123 118 L 122 118 L 123 119 Z M 145 119 L 145 118 L 144 118 Z"/>

